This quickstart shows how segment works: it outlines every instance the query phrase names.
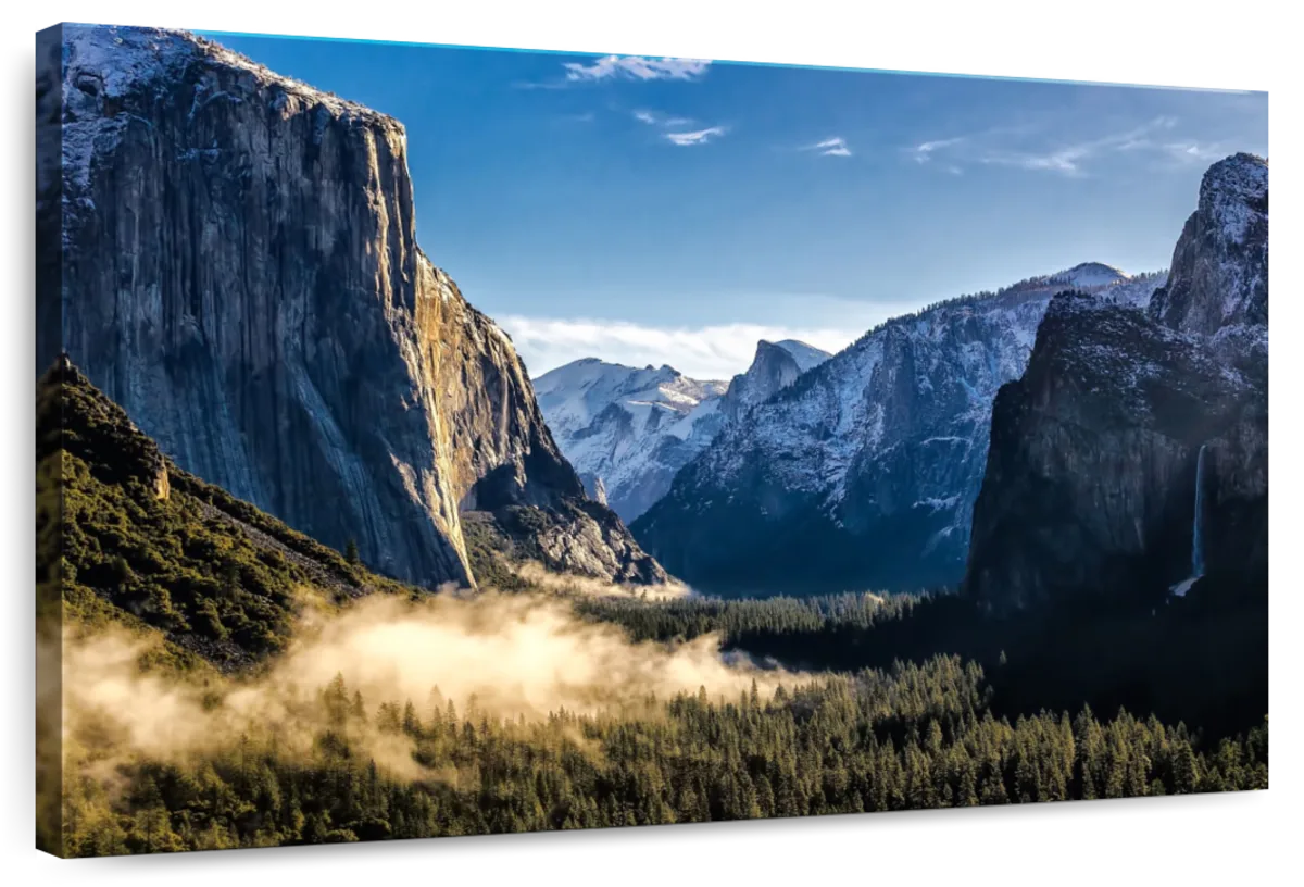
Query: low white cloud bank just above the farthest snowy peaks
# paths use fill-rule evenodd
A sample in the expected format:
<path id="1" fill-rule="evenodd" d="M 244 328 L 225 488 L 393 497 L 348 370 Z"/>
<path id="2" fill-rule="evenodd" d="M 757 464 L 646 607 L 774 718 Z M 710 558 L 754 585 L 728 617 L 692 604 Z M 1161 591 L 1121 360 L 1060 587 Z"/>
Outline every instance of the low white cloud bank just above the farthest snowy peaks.
<path id="1" fill-rule="evenodd" d="M 831 353 L 854 342 L 863 329 L 798 329 L 763 323 L 703 327 L 653 327 L 625 321 L 505 317 L 499 326 L 535 378 L 582 357 L 626 367 L 669 364 L 698 380 L 729 380 L 745 372 L 762 339 L 798 339 Z"/>

